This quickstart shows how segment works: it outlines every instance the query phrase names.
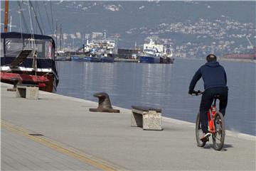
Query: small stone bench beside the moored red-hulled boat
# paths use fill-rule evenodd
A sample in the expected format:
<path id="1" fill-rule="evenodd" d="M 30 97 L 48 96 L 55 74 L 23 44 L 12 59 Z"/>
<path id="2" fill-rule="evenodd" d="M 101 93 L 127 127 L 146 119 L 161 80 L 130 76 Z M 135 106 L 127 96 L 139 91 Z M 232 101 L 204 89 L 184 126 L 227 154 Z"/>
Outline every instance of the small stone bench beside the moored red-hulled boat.
<path id="1" fill-rule="evenodd" d="M 16 97 L 26 99 L 38 99 L 39 88 L 34 84 L 18 84 L 16 88 Z"/>

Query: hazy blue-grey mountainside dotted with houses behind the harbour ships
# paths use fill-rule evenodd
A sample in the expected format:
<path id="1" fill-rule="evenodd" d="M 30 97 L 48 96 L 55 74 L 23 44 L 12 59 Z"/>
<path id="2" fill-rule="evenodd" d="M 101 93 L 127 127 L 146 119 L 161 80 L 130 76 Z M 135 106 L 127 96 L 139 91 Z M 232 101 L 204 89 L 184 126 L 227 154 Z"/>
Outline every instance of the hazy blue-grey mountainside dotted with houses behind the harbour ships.
<path id="1" fill-rule="evenodd" d="M 73 41 L 75 47 L 82 45 L 85 35 L 90 38 L 92 32 L 106 32 L 117 38 L 119 48 L 134 48 L 135 42 L 142 45 L 146 37 L 157 35 L 171 45 L 178 57 L 247 50 L 250 45 L 246 36 L 252 43 L 256 40 L 255 4 L 256 1 L 33 1 L 44 33 L 53 34 L 56 20 L 62 23 L 65 46 L 72 47 Z M 10 1 L 10 9 L 12 24 L 18 26 L 13 31 L 26 31 L 20 26 L 23 21 L 20 22 L 17 1 Z M 21 11 L 30 26 L 26 2 Z M 1 1 L 1 21 L 3 14 Z M 38 33 L 34 18 L 33 23 Z M 59 29 L 58 25 L 58 33 Z"/>

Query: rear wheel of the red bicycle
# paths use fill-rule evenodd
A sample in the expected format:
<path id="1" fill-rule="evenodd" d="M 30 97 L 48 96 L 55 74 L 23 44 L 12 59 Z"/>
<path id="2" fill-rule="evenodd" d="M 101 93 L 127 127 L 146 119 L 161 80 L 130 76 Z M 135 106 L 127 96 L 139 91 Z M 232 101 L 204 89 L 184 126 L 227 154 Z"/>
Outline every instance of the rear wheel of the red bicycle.
<path id="1" fill-rule="evenodd" d="M 225 140 L 225 122 L 223 114 L 219 111 L 215 114 L 214 126 L 216 133 L 213 133 L 213 148 L 215 150 L 221 150 Z"/>

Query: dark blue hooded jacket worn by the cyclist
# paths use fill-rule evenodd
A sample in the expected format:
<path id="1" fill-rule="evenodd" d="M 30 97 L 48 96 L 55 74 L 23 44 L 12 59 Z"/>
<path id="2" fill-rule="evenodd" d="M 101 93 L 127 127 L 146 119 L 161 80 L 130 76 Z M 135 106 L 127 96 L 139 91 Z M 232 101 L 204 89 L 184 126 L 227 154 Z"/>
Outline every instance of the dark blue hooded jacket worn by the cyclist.
<path id="1" fill-rule="evenodd" d="M 201 66 L 191 80 L 189 91 L 193 91 L 196 82 L 203 77 L 204 89 L 227 87 L 227 75 L 219 62 L 211 61 Z"/>

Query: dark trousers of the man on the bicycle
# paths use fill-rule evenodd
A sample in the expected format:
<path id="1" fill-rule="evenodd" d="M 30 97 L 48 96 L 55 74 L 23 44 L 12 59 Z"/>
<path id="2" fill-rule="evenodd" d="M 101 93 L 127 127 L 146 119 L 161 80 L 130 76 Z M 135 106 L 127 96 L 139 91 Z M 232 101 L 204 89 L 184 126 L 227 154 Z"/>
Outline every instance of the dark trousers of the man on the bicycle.
<path id="1" fill-rule="evenodd" d="M 200 104 L 200 119 L 202 131 L 204 133 L 208 132 L 208 116 L 207 112 L 210 109 L 211 104 L 213 103 L 214 96 L 218 94 L 220 95 L 220 113 L 225 116 L 225 109 L 228 104 L 228 87 L 214 87 L 210 89 L 206 89 L 203 92 L 203 96 Z"/>

